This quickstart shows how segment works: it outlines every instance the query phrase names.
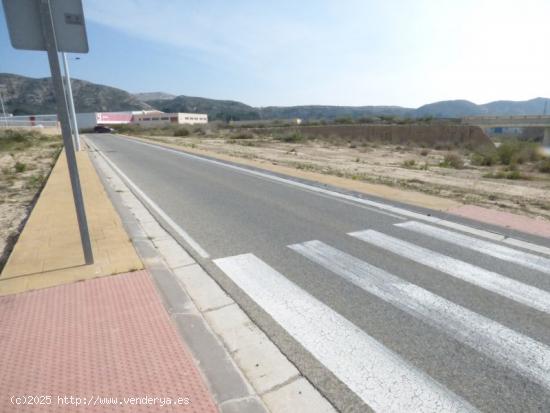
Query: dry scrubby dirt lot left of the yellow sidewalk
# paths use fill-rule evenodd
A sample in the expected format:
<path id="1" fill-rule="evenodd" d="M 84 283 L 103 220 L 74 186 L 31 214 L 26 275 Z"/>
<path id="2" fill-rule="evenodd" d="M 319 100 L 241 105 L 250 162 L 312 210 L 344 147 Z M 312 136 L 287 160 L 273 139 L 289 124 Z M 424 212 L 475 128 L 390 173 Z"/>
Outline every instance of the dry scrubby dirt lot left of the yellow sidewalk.
<path id="1" fill-rule="evenodd" d="M 0 130 L 0 270 L 60 149 L 59 136 Z"/>

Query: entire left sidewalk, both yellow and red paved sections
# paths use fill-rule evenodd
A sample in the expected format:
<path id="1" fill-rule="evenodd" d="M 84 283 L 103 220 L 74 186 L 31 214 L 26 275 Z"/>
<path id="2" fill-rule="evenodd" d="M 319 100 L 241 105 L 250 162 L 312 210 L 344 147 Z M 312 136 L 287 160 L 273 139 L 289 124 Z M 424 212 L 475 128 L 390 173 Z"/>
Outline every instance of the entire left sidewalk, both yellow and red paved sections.
<path id="1" fill-rule="evenodd" d="M 0 276 L 0 412 L 218 411 L 86 152 L 78 163 L 96 262 L 61 156 Z"/>

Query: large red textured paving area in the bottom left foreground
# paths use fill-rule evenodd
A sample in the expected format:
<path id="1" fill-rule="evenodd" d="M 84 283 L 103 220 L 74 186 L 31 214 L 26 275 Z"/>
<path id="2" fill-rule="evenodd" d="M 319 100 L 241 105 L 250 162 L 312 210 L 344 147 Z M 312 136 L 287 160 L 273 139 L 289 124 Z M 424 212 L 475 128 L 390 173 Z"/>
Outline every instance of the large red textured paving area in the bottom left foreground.
<path id="1" fill-rule="evenodd" d="M 51 396 L 51 404 L 13 405 L 11 396 Z M 118 404 L 77 407 L 58 396 Z M 145 396 L 189 404 L 122 399 Z M 218 410 L 150 275 L 136 271 L 0 297 L 0 412 L 15 411 Z"/>

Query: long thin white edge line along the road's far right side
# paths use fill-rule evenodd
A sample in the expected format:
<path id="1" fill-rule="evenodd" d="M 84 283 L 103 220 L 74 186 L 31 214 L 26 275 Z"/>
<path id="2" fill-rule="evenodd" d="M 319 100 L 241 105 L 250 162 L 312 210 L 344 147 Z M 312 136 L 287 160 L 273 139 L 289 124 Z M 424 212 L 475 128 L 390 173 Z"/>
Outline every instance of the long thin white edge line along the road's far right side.
<path id="1" fill-rule="evenodd" d="M 399 208 L 399 207 L 389 205 L 389 204 L 385 204 L 385 203 L 382 203 L 382 202 L 371 201 L 369 199 L 359 198 L 359 197 L 353 196 L 353 195 L 342 194 L 340 192 L 331 191 L 329 189 L 320 188 L 320 187 L 310 185 L 310 184 L 305 184 L 305 183 L 298 182 L 298 181 L 295 181 L 295 180 L 292 180 L 292 179 L 282 178 L 280 176 L 276 176 L 276 175 L 271 174 L 271 173 L 260 172 L 260 171 L 256 171 L 256 170 L 253 170 L 253 169 L 249 169 L 249 168 L 245 168 L 245 167 L 241 167 L 241 166 L 237 166 L 237 165 L 231 165 L 231 164 L 226 163 L 226 162 L 217 161 L 217 160 L 214 160 L 214 159 L 208 159 L 208 158 L 205 158 L 203 156 L 193 155 L 193 154 L 190 154 L 190 153 L 187 153 L 187 152 L 182 152 L 182 151 L 177 150 L 177 149 L 167 148 L 167 147 L 161 146 L 161 145 L 142 142 L 142 141 L 138 141 L 136 139 L 127 138 L 127 137 L 121 137 L 121 139 L 124 139 L 126 141 L 129 141 L 129 142 L 132 142 L 132 143 L 135 143 L 135 144 L 138 144 L 138 145 L 149 146 L 149 147 L 155 148 L 157 150 L 171 152 L 171 153 L 174 153 L 176 155 L 187 157 L 187 158 L 190 158 L 190 159 L 195 159 L 195 160 L 202 161 L 202 162 L 212 163 L 212 164 L 215 164 L 215 165 L 218 165 L 218 166 L 222 166 L 224 168 L 229 168 L 229 169 L 233 169 L 235 171 L 243 172 L 243 173 L 248 174 L 248 175 L 254 175 L 256 177 L 267 179 L 269 181 L 275 181 L 275 182 L 279 182 L 279 183 L 282 183 L 282 184 L 285 184 L 285 185 L 294 186 L 294 187 L 301 188 L 301 189 L 309 191 L 309 192 L 315 192 L 317 194 L 328 195 L 332 198 L 337 198 L 337 199 L 340 199 L 340 200 L 345 199 L 347 201 L 351 201 L 352 203 L 356 203 L 356 204 L 358 203 L 358 204 L 362 204 L 362 205 L 368 205 L 370 207 L 374 207 L 376 209 L 379 209 L 380 211 L 388 211 L 390 213 L 397 214 L 397 215 L 400 215 L 400 216 L 405 216 L 405 217 L 410 218 L 410 219 L 416 219 L 416 220 L 420 220 L 420 221 L 431 222 L 433 224 L 438 224 L 438 225 L 446 226 L 446 227 L 449 227 L 449 228 L 457 229 L 459 231 L 463 231 L 463 232 L 466 232 L 466 233 L 478 235 L 478 236 L 483 237 L 483 238 L 488 238 L 488 239 L 492 239 L 494 241 L 502 241 L 502 242 L 506 242 L 506 243 L 510 243 L 510 244 L 515 244 L 517 246 L 520 246 L 521 248 L 525 248 L 525 249 L 529 249 L 529 250 L 532 250 L 532 251 L 541 252 L 541 253 L 550 255 L 550 248 L 543 247 L 543 246 L 537 245 L 537 244 L 532 244 L 530 242 L 526 242 L 526 241 L 522 241 L 522 240 L 517 240 L 515 238 L 508 238 L 504 235 L 501 235 L 501 234 L 498 234 L 498 233 L 495 233 L 495 232 L 490 232 L 490 231 L 485 231 L 485 230 L 481 230 L 481 229 L 477 229 L 477 228 L 472 228 L 472 227 L 469 227 L 469 226 L 466 226 L 466 225 L 463 225 L 463 224 L 458 224 L 456 222 L 447 221 L 445 219 L 433 217 L 433 216 L 430 216 L 430 215 L 425 215 L 425 214 L 421 214 L 421 213 L 418 213 L 418 212 L 409 211 L 407 209 Z"/>

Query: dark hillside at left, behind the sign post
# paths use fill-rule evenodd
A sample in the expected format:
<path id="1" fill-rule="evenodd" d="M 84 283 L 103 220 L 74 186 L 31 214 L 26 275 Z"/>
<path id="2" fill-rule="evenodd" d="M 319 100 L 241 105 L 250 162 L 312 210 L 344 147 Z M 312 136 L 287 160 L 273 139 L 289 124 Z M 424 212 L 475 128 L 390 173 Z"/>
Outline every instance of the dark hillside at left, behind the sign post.
<path id="1" fill-rule="evenodd" d="M 14 115 L 55 113 L 55 99 L 50 78 L 35 79 L 0 73 L 2 97 L 8 113 Z M 151 107 L 128 92 L 110 86 L 72 79 L 77 112 L 124 111 Z"/>

